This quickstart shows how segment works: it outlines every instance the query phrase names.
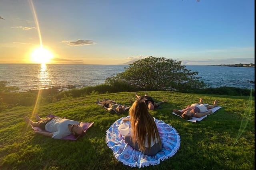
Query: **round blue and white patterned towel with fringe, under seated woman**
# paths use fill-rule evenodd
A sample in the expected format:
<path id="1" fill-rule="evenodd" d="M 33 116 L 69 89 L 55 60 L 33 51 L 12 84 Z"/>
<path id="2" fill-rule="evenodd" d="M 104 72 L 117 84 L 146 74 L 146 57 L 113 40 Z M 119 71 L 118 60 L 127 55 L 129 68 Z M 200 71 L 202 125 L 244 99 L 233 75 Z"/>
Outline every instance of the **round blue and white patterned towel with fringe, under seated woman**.
<path id="1" fill-rule="evenodd" d="M 124 137 L 118 132 L 118 127 L 120 124 L 124 123 L 122 121 L 124 118 L 125 117 L 122 117 L 115 121 L 106 131 L 106 143 L 108 147 L 114 152 L 116 159 L 124 165 L 138 168 L 157 165 L 160 164 L 160 160 L 163 161 L 172 157 L 180 148 L 180 135 L 176 129 L 164 123 L 164 121 L 155 119 L 156 127 L 162 141 L 162 150 L 154 156 L 148 156 L 133 149 L 130 145 L 125 143 Z M 127 118 L 129 118 L 129 116 Z M 128 123 L 130 127 L 130 121 L 126 123 Z"/>

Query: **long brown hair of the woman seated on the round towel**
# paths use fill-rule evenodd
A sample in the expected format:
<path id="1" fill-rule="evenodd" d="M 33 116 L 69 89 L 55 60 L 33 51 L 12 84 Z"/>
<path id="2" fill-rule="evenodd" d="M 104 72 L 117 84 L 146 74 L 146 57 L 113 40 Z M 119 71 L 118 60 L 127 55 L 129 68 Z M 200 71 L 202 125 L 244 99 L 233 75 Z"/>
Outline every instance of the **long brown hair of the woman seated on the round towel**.
<path id="1" fill-rule="evenodd" d="M 148 108 L 144 102 L 137 99 L 129 109 L 131 121 L 131 133 L 133 135 L 132 142 L 138 143 L 140 151 L 145 151 L 146 135 L 148 133 L 148 146 L 151 146 L 151 139 L 154 144 L 159 141 L 161 145 L 160 136 L 154 121 L 154 117 L 148 112 Z"/>

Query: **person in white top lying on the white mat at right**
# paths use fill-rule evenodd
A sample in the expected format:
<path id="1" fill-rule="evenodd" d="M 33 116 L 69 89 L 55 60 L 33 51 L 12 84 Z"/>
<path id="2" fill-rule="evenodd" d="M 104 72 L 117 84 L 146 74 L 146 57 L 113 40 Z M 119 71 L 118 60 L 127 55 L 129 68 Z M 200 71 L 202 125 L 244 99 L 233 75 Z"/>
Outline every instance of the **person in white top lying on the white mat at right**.
<path id="1" fill-rule="evenodd" d="M 180 115 L 183 119 L 189 120 L 192 119 L 192 117 L 199 118 L 212 113 L 211 109 L 216 107 L 217 105 L 218 101 L 215 100 L 213 105 L 204 106 L 202 98 L 200 98 L 199 103 L 188 105 L 185 109 L 182 109 L 181 111 L 173 109 L 173 112 L 177 115 Z"/>

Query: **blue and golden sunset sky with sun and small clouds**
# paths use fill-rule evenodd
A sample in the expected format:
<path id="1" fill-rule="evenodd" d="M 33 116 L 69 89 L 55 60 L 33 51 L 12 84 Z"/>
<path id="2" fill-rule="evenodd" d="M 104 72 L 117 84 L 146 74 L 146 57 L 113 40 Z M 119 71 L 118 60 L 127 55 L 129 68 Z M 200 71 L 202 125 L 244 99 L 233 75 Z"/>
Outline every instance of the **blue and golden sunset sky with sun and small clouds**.
<path id="1" fill-rule="evenodd" d="M 254 0 L 1 0 L 0 17 L 0 63 L 254 63 Z"/>

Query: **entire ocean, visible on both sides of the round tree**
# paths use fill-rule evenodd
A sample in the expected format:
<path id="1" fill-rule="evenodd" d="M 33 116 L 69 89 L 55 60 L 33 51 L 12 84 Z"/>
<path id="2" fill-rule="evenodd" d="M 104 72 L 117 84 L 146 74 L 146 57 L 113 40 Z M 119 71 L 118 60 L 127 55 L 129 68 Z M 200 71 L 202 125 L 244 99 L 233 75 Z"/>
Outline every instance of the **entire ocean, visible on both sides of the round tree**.
<path id="1" fill-rule="evenodd" d="M 18 86 L 20 92 L 52 86 L 76 88 L 103 84 L 106 78 L 125 71 L 128 65 L 94 64 L 0 64 L 0 81 Z M 186 66 L 197 71 L 200 80 L 212 88 L 231 86 L 254 89 L 254 68 L 228 66 Z"/>

